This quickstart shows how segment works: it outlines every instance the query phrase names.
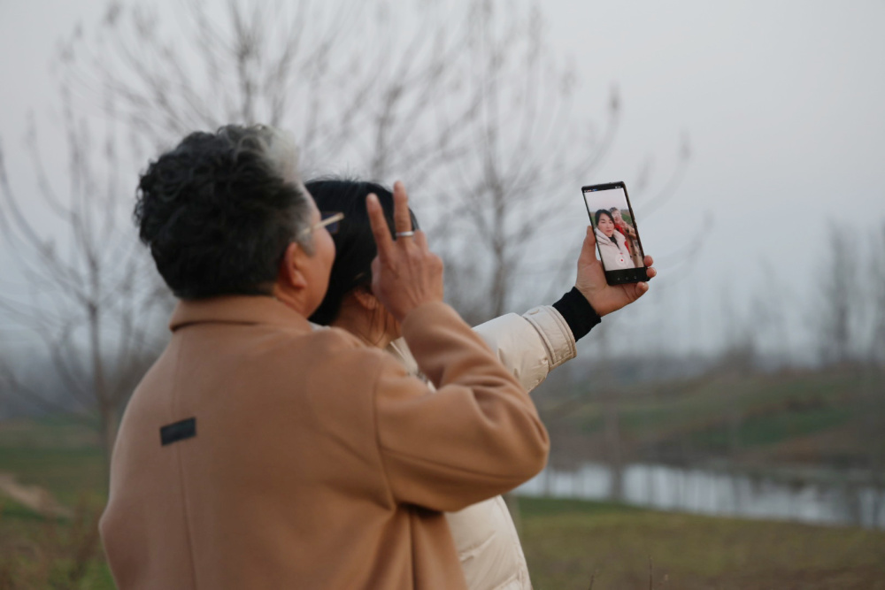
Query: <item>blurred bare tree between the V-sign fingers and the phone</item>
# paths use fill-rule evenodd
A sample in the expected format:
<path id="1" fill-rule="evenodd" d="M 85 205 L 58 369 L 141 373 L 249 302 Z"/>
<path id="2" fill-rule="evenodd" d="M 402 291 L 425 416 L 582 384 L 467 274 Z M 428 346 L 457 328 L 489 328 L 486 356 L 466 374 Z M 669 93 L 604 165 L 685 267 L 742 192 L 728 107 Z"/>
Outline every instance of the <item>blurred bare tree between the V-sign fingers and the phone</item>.
<path id="1" fill-rule="evenodd" d="M 563 219 L 563 199 L 575 200 L 610 147 L 619 98 L 612 90 L 601 133 L 575 116 L 575 75 L 547 46 L 537 6 L 520 12 L 476 2 L 470 23 L 465 84 L 478 117 L 463 156 L 439 171 L 446 190 L 433 199 L 433 229 L 450 297 L 480 320 L 504 313 L 527 274 L 543 281 L 562 274 L 563 266 L 550 265 L 561 252 L 551 257 L 537 238 Z"/>

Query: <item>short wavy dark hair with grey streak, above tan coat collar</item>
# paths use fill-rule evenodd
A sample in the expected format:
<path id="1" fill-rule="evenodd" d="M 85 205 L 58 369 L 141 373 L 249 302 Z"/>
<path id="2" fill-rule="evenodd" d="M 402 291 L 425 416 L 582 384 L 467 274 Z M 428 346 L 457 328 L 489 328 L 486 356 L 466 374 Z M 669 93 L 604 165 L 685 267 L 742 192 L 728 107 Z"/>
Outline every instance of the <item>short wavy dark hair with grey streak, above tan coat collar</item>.
<path id="1" fill-rule="evenodd" d="M 296 159 L 273 127 L 231 125 L 189 134 L 148 166 L 135 225 L 174 295 L 272 292 L 286 247 L 311 222 Z"/>

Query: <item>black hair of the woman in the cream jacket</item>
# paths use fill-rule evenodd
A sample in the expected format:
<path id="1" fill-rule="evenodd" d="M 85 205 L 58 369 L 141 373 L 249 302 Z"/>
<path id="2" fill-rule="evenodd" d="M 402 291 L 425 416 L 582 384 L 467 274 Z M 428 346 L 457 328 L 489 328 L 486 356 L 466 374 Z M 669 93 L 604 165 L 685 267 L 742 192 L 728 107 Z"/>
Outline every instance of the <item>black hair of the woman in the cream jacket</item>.
<path id="1" fill-rule="evenodd" d="M 337 177 L 309 180 L 304 185 L 313 196 L 320 211 L 342 211 L 344 218 L 335 241 L 335 263 L 323 302 L 313 312 L 311 321 L 321 326 L 330 325 L 341 310 L 344 297 L 355 288 L 372 284 L 372 261 L 378 254 L 366 211 L 366 196 L 378 196 L 390 235 L 394 236 L 393 193 L 374 182 Z M 412 215 L 412 228 L 418 229 L 418 219 Z"/>

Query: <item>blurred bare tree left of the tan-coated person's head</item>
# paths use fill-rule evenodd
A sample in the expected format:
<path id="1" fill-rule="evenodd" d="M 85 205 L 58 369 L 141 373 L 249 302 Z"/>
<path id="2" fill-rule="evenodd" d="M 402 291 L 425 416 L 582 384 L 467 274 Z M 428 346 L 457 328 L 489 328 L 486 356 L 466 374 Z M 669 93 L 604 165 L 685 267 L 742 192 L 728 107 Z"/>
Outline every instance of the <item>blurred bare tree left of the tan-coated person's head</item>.
<path id="1" fill-rule="evenodd" d="M 0 309 L 36 334 L 67 395 L 63 400 L 22 379 L 24 367 L 0 363 L 8 391 L 43 410 L 98 413 L 110 456 L 119 415 L 158 351 L 156 311 L 168 309 L 165 288 L 135 239 L 119 177 L 122 149 L 110 123 L 96 137 L 62 89 L 67 172 L 43 165 L 37 130 L 27 133 L 35 194 L 17 194 L 0 145 L 0 233 L 29 292 L 3 297 Z M 110 104 L 108 105 L 110 108 Z M 66 177 L 65 188 L 56 179 Z"/>

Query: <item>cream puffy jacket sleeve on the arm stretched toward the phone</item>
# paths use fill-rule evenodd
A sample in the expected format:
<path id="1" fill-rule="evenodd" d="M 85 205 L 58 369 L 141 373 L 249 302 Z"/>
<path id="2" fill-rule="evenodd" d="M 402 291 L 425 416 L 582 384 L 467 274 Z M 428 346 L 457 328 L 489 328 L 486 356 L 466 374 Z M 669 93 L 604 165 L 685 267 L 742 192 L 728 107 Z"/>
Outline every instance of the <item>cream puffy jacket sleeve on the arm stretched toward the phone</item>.
<path id="1" fill-rule="evenodd" d="M 508 313 L 473 330 L 527 391 L 577 354 L 572 330 L 550 305 L 532 308 L 521 316 Z"/>

